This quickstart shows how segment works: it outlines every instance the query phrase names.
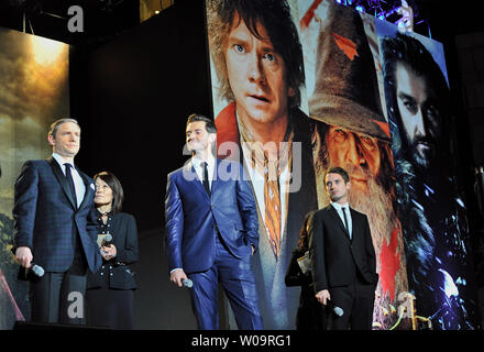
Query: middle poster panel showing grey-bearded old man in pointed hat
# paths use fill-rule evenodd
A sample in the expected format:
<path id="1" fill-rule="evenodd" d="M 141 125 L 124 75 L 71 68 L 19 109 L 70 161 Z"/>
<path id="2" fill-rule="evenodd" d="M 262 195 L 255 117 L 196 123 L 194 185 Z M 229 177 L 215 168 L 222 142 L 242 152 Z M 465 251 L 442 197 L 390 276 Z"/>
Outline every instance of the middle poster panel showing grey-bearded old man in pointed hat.
<path id="1" fill-rule="evenodd" d="M 299 0 L 298 10 L 309 116 L 317 120 L 318 205 L 330 204 L 326 172 L 346 169 L 350 205 L 367 216 L 376 253 L 373 328 L 408 328 L 408 320 L 399 319 L 409 294 L 375 19 L 334 1 Z"/>

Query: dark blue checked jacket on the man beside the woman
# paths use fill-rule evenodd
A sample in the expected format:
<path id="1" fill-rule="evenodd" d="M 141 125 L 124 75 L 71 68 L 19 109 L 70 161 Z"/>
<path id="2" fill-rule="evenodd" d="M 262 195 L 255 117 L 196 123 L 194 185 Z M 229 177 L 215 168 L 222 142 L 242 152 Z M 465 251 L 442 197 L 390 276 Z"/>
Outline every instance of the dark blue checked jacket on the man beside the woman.
<path id="1" fill-rule="evenodd" d="M 101 264 L 96 242 L 95 184 L 92 178 L 78 173 L 86 194 L 77 210 L 64 173 L 52 157 L 26 162 L 15 182 L 13 251 L 29 246 L 33 261 L 46 272 L 65 272 L 70 267 L 76 228 L 89 268 L 97 272 Z"/>

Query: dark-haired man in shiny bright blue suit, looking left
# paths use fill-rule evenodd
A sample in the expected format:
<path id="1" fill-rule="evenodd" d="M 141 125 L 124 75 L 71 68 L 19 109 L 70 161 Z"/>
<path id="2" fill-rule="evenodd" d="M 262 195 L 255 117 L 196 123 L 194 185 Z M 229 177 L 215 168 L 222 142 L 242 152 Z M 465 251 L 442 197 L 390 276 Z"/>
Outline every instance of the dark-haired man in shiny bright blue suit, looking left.
<path id="1" fill-rule="evenodd" d="M 165 198 L 170 280 L 189 279 L 200 329 L 218 329 L 218 283 L 226 290 L 239 329 L 262 329 L 251 258 L 258 244 L 258 219 L 240 163 L 213 156 L 217 129 L 202 116 L 187 121 L 193 157 L 170 173 Z"/>

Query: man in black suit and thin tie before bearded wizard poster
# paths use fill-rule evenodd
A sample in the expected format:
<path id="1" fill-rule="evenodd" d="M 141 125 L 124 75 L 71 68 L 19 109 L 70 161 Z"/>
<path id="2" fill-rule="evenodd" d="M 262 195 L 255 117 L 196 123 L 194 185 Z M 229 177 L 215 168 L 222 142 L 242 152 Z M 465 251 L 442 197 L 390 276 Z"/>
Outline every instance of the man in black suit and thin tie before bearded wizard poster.
<path id="1" fill-rule="evenodd" d="M 343 309 L 330 314 L 331 329 L 371 330 L 378 274 L 369 220 L 349 207 L 346 170 L 330 168 L 324 185 L 331 205 L 315 213 L 309 249 L 316 298 Z"/>

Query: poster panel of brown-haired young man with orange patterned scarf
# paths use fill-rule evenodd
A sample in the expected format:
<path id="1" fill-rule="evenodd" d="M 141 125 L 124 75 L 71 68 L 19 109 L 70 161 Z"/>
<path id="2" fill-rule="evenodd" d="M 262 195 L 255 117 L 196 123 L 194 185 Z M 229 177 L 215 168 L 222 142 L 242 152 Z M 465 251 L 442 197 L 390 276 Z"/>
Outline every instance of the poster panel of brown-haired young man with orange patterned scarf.
<path id="1" fill-rule="evenodd" d="M 285 276 L 304 217 L 318 207 L 297 8 L 206 4 L 219 157 L 244 164 L 258 209 L 253 267 L 264 327 L 294 329 L 300 285 Z"/>

